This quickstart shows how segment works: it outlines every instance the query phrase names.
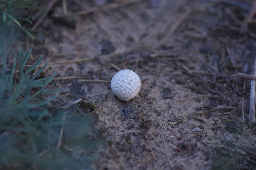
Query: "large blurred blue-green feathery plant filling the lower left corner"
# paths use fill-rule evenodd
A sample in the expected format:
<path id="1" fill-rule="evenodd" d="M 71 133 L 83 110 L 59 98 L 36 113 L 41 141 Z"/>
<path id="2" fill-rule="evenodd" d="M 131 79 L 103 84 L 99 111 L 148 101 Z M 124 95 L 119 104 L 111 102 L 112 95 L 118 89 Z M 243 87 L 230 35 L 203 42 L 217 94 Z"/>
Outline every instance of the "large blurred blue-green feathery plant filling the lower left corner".
<path id="1" fill-rule="evenodd" d="M 93 150 L 95 139 L 91 139 L 94 140 L 91 142 L 88 138 L 90 119 L 65 120 L 67 111 L 53 111 L 49 107 L 57 97 L 56 91 L 50 90 L 56 72 L 50 77 L 38 78 L 47 66 L 45 64 L 38 72 L 34 72 L 43 56 L 25 69 L 31 52 L 32 47 L 26 51 L 19 48 L 15 51 L 12 67 L 8 68 L 6 45 L 1 49 L 0 169 L 76 170 L 86 167 L 90 156 L 87 156 L 87 160 L 77 158 L 67 150 L 67 144 L 60 145 L 60 142 L 64 138 L 61 131 L 68 129 L 75 133 L 69 139 L 72 141 L 70 143 Z"/>

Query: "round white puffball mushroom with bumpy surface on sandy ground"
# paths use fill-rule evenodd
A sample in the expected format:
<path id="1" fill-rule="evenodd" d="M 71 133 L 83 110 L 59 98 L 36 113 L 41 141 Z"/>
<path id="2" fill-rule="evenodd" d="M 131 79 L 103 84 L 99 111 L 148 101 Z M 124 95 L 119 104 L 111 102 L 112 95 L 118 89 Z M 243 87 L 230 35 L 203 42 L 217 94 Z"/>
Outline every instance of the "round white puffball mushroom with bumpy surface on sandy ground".
<path id="1" fill-rule="evenodd" d="M 120 100 L 133 99 L 140 92 L 141 81 L 134 71 L 125 69 L 118 71 L 111 79 L 111 90 Z"/>

